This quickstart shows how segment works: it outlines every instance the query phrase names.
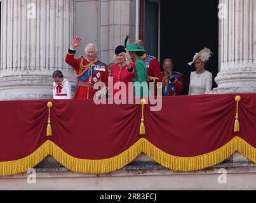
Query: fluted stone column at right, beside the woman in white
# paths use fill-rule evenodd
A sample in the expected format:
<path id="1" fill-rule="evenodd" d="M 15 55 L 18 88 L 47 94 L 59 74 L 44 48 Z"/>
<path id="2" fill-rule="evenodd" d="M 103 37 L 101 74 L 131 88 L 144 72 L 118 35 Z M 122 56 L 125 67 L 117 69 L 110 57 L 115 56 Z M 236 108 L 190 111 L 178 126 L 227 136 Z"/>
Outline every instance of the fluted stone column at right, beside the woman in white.
<path id="1" fill-rule="evenodd" d="M 220 0 L 220 72 L 212 93 L 256 92 L 256 0 Z"/>

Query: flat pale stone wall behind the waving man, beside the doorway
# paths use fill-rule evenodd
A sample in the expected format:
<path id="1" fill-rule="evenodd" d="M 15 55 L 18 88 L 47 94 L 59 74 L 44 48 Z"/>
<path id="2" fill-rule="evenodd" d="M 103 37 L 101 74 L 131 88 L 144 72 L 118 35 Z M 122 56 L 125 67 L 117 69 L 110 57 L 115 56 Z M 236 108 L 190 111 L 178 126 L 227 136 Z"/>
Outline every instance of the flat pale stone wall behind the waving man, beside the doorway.
<path id="1" fill-rule="evenodd" d="M 86 9 L 86 12 L 84 12 Z M 135 41 L 136 1 L 104 0 L 76 1 L 76 34 L 82 37 L 77 56 L 84 55 L 84 46 L 95 43 L 98 56 L 104 63 L 113 61 L 116 46 Z"/>

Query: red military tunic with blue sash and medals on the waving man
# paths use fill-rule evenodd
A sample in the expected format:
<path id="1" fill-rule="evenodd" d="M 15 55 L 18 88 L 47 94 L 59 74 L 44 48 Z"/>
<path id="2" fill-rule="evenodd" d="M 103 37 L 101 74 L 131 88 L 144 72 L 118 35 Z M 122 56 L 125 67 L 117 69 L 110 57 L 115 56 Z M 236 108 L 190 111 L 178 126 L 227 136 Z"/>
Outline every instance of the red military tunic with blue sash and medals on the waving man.
<path id="1" fill-rule="evenodd" d="M 105 84 L 107 85 L 108 73 L 107 65 L 105 65 L 105 63 L 102 63 L 99 60 L 90 62 L 87 59 L 84 59 L 83 56 L 80 56 L 79 58 L 74 58 L 74 53 L 67 53 L 65 62 L 73 67 L 77 76 L 77 89 L 74 95 L 74 99 L 93 98 L 93 96 L 97 92 L 97 89 L 80 85 L 83 82 L 87 82 L 88 84 L 91 84 L 91 86 L 93 86 L 93 84 L 95 84 L 96 82 L 102 81 L 105 82 Z M 88 67 L 86 67 L 88 65 L 89 67 L 92 66 L 90 70 L 88 69 Z"/>

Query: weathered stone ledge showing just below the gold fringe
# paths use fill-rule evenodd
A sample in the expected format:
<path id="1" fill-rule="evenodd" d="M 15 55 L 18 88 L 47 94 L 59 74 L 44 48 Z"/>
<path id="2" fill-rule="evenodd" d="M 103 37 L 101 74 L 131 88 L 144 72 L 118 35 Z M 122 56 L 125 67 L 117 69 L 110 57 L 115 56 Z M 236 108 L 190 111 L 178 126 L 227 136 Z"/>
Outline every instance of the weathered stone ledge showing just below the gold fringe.
<path id="1" fill-rule="evenodd" d="M 159 165 L 154 160 L 147 157 L 145 154 L 141 154 L 131 164 L 128 164 L 123 169 L 106 174 L 83 174 L 74 173 L 66 169 L 62 164 L 58 163 L 53 157 L 48 156 L 41 163 L 39 163 L 34 169 L 41 178 L 50 177 L 109 177 L 109 176 L 157 176 L 157 175 L 174 175 L 174 174 L 217 174 L 218 170 L 224 168 L 227 173 L 256 173 L 256 164 L 250 162 L 239 153 L 235 153 L 232 157 L 225 162 L 218 164 L 201 171 L 192 172 L 180 172 L 166 169 Z M 27 173 L 18 174 L 15 176 L 8 176 L 5 178 L 22 178 L 27 177 Z M 4 177 L 2 177 L 4 178 Z M 1 179 L 1 177 L 0 177 Z"/>

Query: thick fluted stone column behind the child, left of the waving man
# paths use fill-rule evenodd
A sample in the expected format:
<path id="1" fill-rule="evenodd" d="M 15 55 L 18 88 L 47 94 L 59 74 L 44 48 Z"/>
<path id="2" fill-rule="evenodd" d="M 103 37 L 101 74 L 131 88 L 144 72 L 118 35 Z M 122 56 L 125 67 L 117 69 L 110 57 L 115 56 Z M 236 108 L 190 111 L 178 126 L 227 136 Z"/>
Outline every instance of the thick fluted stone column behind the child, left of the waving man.
<path id="1" fill-rule="evenodd" d="M 65 63 L 74 36 L 74 1 L 2 1 L 0 100 L 52 98 L 55 70 L 74 84 Z"/>

